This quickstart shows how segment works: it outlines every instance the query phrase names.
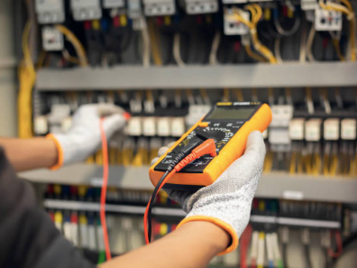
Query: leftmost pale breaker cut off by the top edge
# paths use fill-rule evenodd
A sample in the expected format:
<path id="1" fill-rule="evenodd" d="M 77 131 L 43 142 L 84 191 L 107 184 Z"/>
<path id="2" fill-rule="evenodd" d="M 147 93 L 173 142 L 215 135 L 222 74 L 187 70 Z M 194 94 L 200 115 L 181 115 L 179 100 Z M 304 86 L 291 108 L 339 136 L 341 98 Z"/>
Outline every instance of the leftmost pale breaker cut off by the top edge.
<path id="1" fill-rule="evenodd" d="M 37 21 L 41 24 L 63 23 L 65 10 L 63 0 L 36 0 Z"/>

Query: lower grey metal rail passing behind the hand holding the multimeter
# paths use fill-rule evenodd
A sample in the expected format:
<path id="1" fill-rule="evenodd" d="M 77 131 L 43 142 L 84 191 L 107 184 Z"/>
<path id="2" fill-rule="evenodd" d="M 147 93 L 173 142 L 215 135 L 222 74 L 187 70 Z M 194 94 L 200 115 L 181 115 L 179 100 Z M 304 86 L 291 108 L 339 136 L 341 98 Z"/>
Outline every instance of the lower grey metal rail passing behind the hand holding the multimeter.
<path id="1" fill-rule="evenodd" d="M 149 166 L 111 166 L 108 185 L 120 189 L 152 190 Z M 59 171 L 26 171 L 19 175 L 37 183 L 59 183 L 99 187 L 103 168 L 98 165 L 75 164 Z M 287 172 L 263 174 L 257 198 L 298 199 L 327 202 L 357 203 L 357 180 L 348 177 L 289 175 Z"/>

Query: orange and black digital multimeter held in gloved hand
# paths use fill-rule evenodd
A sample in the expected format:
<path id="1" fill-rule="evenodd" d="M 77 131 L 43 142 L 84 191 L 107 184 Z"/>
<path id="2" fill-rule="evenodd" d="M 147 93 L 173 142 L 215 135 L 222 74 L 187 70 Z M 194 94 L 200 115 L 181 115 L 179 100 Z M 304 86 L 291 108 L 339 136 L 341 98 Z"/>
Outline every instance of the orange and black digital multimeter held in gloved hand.
<path id="1" fill-rule="evenodd" d="M 245 150 L 252 131 L 263 132 L 271 122 L 271 110 L 259 102 L 221 102 L 160 157 L 149 171 L 154 186 L 169 163 L 193 137 L 215 140 L 217 155 L 204 155 L 189 163 L 165 184 L 166 189 L 197 189 L 212 184 Z"/>

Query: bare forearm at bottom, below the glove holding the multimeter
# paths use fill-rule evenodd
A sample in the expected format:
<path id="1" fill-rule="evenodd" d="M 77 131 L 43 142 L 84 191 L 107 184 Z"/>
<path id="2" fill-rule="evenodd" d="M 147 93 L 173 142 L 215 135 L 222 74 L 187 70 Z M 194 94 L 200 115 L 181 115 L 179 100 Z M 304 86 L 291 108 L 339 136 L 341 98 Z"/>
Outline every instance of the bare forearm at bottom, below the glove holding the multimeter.
<path id="1" fill-rule="evenodd" d="M 101 268 L 206 267 L 229 244 L 230 236 L 209 222 L 190 222 L 150 245 L 116 257 Z"/>

